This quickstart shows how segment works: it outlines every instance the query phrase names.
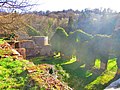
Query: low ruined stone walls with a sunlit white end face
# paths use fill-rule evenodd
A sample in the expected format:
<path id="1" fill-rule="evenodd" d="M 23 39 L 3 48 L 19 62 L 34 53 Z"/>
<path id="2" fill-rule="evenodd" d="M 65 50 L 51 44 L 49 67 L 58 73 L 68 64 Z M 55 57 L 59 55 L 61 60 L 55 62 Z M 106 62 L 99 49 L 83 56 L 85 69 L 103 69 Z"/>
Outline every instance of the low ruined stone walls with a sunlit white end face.
<path id="1" fill-rule="evenodd" d="M 51 45 L 48 43 L 47 36 L 32 36 L 29 40 L 18 40 L 14 43 L 8 42 L 24 58 L 35 56 L 52 56 Z"/>

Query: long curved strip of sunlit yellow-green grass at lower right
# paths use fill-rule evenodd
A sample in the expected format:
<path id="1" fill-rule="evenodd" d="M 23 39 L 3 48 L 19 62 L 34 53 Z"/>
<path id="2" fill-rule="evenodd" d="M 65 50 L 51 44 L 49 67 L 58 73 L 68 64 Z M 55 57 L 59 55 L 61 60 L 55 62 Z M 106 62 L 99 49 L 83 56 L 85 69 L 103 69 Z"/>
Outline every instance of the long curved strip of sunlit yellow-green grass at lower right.
<path id="1" fill-rule="evenodd" d="M 103 72 L 100 76 L 98 76 L 95 80 L 93 80 L 91 83 L 86 85 L 85 88 L 88 90 L 103 90 L 105 88 L 104 84 L 107 84 L 111 79 L 114 78 L 116 71 L 116 58 L 110 59 L 108 61 L 107 70 Z"/>

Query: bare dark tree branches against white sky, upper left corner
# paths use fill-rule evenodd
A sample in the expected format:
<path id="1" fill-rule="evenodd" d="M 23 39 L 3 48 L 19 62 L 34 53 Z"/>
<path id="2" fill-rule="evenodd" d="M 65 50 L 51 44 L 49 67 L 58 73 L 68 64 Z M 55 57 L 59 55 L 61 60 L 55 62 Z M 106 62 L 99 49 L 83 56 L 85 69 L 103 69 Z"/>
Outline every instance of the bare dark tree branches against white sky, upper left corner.
<path id="1" fill-rule="evenodd" d="M 33 3 L 33 0 L 0 0 L 0 11 L 23 11 L 37 5 L 36 2 Z"/>

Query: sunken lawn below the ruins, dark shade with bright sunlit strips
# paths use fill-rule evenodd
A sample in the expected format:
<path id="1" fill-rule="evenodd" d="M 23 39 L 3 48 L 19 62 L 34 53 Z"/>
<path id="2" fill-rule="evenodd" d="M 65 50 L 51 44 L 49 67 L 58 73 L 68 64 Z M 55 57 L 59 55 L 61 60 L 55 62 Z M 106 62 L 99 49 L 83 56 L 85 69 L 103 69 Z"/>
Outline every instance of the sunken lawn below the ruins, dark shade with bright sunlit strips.
<path id="1" fill-rule="evenodd" d="M 84 65 L 80 66 L 75 58 L 63 60 L 60 57 L 37 57 L 31 59 L 31 61 L 35 64 L 49 63 L 62 66 L 69 73 L 70 78 L 67 82 L 74 90 L 103 90 L 105 88 L 104 84 L 114 77 L 117 70 L 116 59 L 110 59 L 107 70 L 102 73 L 99 70 L 100 60 L 96 60 L 93 67 L 94 72 L 87 70 Z"/>

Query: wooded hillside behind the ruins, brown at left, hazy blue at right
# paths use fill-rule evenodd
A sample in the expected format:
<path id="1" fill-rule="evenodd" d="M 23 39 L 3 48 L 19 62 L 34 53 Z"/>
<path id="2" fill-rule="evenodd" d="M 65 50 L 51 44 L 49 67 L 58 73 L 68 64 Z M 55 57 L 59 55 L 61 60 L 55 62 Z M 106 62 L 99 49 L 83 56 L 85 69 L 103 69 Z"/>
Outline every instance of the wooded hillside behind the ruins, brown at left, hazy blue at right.
<path id="1" fill-rule="evenodd" d="M 49 38 L 57 27 L 69 34 L 81 29 L 89 34 L 110 35 L 120 26 L 120 15 L 111 9 L 84 9 L 63 11 L 32 11 L 26 13 L 0 13 L 0 30 L 20 35 L 47 35 Z"/>

